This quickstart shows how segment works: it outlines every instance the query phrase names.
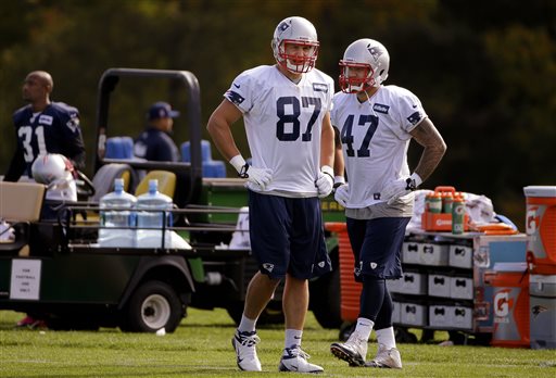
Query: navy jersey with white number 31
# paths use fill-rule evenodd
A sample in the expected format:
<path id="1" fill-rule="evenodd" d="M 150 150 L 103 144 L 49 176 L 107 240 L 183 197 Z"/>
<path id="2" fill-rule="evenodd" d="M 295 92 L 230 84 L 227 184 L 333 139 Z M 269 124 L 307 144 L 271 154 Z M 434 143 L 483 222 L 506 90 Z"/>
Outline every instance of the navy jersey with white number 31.
<path id="1" fill-rule="evenodd" d="M 85 146 L 79 127 L 79 111 L 63 102 L 52 102 L 33 114 L 30 105 L 13 114 L 17 148 L 5 180 L 17 180 L 40 154 L 60 153 L 79 169 L 85 166 Z"/>

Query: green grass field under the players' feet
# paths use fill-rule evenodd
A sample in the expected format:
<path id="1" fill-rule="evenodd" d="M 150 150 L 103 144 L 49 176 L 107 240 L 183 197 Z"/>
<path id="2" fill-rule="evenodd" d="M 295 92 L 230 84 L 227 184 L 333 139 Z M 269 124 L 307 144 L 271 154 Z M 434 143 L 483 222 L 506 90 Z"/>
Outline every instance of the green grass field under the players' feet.
<path id="1" fill-rule="evenodd" d="M 225 311 L 189 310 L 176 332 L 166 336 L 22 330 L 23 314 L 0 311 L 1 377 L 283 377 L 278 362 L 283 348 L 281 326 L 258 330 L 263 373 L 238 370 L 230 339 L 235 330 Z M 492 346 L 399 344 L 402 370 L 349 367 L 329 352 L 337 330 L 323 329 L 312 313 L 303 348 L 321 365 L 321 377 L 556 377 L 555 350 Z M 445 339 L 444 339 L 445 340 Z M 376 344 L 369 344 L 369 355 Z M 291 376 L 292 374 L 287 374 Z"/>

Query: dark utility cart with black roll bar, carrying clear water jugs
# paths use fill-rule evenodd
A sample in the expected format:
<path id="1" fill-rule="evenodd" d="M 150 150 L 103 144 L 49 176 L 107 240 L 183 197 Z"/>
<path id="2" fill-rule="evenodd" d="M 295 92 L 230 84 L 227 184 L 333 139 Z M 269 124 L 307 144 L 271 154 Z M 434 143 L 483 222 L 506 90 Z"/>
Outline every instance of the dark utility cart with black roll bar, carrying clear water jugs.
<path id="1" fill-rule="evenodd" d="M 173 93 L 185 89 L 176 102 L 184 104 L 187 161 L 152 162 L 106 153 L 110 141 L 118 137 L 109 122 L 113 92 L 126 83 L 153 79 L 166 81 Z M 42 185 L 0 182 L 0 217 L 10 222 L 16 236 L 13 242 L 0 243 L 0 308 L 29 313 L 52 329 L 172 332 L 188 306 L 224 307 L 239 322 L 247 284 L 257 268 L 249 247 L 229 247 L 233 232 L 245 231 L 238 229 L 238 216 L 244 212 L 247 191 L 239 178 L 203 177 L 203 148 L 208 142 L 202 140 L 201 130 L 200 88 L 192 73 L 104 72 L 99 83 L 94 176 L 86 201 L 62 206 L 58 219 L 47 222 L 39 217 Z M 139 194 L 151 177 L 159 179 L 161 192 L 175 204 L 174 222 L 161 230 L 160 245 L 100 245 L 98 201 L 113 190 L 114 178 L 124 178 L 126 191 Z M 23 194 L 28 197 L 20 200 Z M 18 207 L 22 201 L 28 210 Z M 326 220 L 342 219 L 332 199 L 325 199 L 323 206 Z M 167 242 L 167 232 L 177 235 L 187 248 Z M 328 244 L 337 266 L 336 238 L 329 238 Z M 339 327 L 338 270 L 309 287 L 317 320 Z M 282 318 L 279 289 L 261 322 Z"/>

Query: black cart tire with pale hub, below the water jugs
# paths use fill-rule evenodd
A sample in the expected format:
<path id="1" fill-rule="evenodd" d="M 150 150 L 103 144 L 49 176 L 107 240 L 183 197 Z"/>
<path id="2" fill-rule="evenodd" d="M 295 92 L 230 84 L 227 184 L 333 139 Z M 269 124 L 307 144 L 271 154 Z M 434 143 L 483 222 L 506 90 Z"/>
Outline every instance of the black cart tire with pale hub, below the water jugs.
<path id="1" fill-rule="evenodd" d="M 126 306 L 123 331 L 156 332 L 164 328 L 174 332 L 185 314 L 176 291 L 161 281 L 147 281 L 131 294 Z"/>

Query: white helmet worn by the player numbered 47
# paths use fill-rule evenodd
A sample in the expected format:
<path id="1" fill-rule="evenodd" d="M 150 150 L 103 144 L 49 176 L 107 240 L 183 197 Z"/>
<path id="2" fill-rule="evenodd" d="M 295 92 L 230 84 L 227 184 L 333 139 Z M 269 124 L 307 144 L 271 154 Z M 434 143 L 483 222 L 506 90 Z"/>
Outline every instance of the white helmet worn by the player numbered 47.
<path id="1" fill-rule="evenodd" d="M 350 68 L 367 68 L 364 77 L 350 77 Z M 357 93 L 379 87 L 388 77 L 390 55 L 382 43 L 369 38 L 358 39 L 345 49 L 340 61 L 340 88 Z"/>

